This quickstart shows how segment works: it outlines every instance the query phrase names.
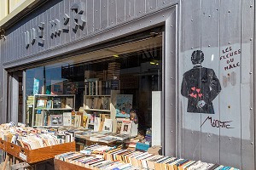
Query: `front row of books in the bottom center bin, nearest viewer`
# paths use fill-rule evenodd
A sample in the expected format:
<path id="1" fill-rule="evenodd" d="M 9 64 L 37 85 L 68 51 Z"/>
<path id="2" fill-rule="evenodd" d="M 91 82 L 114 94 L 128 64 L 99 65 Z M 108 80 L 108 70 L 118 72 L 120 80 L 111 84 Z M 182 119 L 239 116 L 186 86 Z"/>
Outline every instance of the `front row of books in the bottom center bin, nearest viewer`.
<path id="1" fill-rule="evenodd" d="M 89 156 L 79 152 L 67 152 L 65 154 L 55 156 L 56 160 L 66 161 L 80 167 L 90 169 L 105 170 L 105 169 L 137 169 L 131 164 L 121 161 L 106 161 L 96 156 Z"/>

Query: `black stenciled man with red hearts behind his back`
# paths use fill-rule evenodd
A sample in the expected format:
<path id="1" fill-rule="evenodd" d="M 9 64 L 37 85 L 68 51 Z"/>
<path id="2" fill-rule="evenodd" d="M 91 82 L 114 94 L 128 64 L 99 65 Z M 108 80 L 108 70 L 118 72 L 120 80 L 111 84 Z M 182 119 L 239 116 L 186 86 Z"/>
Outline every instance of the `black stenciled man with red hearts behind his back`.
<path id="1" fill-rule="evenodd" d="M 194 67 L 183 74 L 181 94 L 188 98 L 187 112 L 214 114 L 212 100 L 221 91 L 215 72 L 203 67 L 204 54 L 195 50 L 191 54 Z"/>

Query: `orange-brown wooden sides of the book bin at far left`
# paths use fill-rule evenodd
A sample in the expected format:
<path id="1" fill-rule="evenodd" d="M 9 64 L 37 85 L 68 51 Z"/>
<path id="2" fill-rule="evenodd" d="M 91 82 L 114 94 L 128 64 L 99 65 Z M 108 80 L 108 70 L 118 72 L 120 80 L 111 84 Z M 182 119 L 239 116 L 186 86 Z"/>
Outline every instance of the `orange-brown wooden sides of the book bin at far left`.
<path id="1" fill-rule="evenodd" d="M 4 150 L 11 156 L 26 161 L 29 164 L 35 164 L 39 161 L 46 161 L 55 157 L 55 155 L 75 150 L 75 142 L 65 144 L 56 144 L 35 150 L 27 150 L 16 144 L 0 139 L 0 150 Z"/>

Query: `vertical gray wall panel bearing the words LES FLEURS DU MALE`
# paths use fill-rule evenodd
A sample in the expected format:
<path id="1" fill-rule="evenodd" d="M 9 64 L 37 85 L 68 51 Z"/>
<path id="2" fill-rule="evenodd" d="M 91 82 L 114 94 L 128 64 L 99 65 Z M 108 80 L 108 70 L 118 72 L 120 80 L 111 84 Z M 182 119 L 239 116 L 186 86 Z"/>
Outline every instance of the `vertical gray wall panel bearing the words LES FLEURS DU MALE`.
<path id="1" fill-rule="evenodd" d="M 229 66 L 241 63 L 241 54 L 238 54 L 241 49 L 241 0 L 222 0 L 220 16 L 220 57 L 234 53 L 233 58 L 222 57 L 219 65 L 219 77 L 223 86 L 219 94 L 219 119 L 222 122 L 231 121 L 230 126 L 234 127 L 219 129 L 220 163 L 241 168 L 241 67 Z M 226 69 L 227 66 L 229 69 Z M 226 82 L 227 79 L 231 81 Z"/>

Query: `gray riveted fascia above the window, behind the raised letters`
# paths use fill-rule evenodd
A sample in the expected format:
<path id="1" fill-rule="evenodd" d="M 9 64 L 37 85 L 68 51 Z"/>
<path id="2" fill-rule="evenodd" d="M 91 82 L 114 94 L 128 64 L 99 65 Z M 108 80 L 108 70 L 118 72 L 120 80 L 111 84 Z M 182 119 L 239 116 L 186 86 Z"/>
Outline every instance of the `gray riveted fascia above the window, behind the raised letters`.
<path id="1" fill-rule="evenodd" d="M 86 18 L 86 25 L 84 28 L 78 29 L 74 32 L 73 28 L 73 14 L 71 14 L 71 6 L 74 3 L 84 3 L 84 17 Z M 157 4 L 164 4 L 157 6 Z M 170 5 L 173 1 L 165 1 L 165 2 L 157 2 L 153 0 L 63 0 L 60 3 L 55 3 L 54 6 L 46 8 L 45 10 L 42 8 L 41 14 L 37 15 L 36 18 L 29 20 L 24 24 L 24 30 L 22 31 L 31 31 L 32 28 L 35 28 L 38 31 L 38 24 L 42 21 L 45 23 L 44 34 L 45 34 L 45 42 L 44 47 L 38 46 L 38 42 L 34 45 L 30 44 L 28 48 L 25 48 L 25 36 L 22 39 L 15 41 L 11 38 L 11 43 L 17 43 L 20 41 L 21 54 L 16 56 L 12 54 L 10 48 L 7 48 L 7 53 L 9 53 L 10 61 L 15 61 L 16 59 L 23 57 L 31 56 L 32 54 L 36 54 L 39 51 L 44 52 L 49 48 L 59 47 L 61 45 L 67 44 L 68 42 L 79 40 L 81 37 L 86 35 L 91 35 L 95 31 L 100 31 L 102 29 L 107 29 L 111 26 L 116 26 L 120 23 L 125 22 L 126 20 L 134 19 L 135 17 L 139 17 L 143 14 L 151 12 L 156 8 L 164 8 L 165 6 Z M 48 3 L 46 3 L 47 6 Z M 50 4 L 50 3 L 49 3 Z M 60 21 L 61 26 L 63 26 L 63 17 L 64 14 L 68 14 L 70 17 L 68 25 L 70 26 L 70 30 L 63 32 L 61 31 L 60 35 L 55 35 L 54 37 L 50 37 L 51 26 L 49 21 L 56 20 Z M 20 31 L 22 27 L 18 28 Z M 11 32 L 9 37 L 12 37 L 15 32 Z M 24 34 L 24 33 L 22 33 Z M 14 41 L 14 42 L 12 42 Z M 15 44 L 14 44 L 15 45 Z M 8 46 L 9 47 L 9 46 Z M 14 46 L 12 46 L 14 47 Z M 17 49 L 15 53 L 18 53 Z M 12 58 L 13 57 L 13 58 Z"/>

